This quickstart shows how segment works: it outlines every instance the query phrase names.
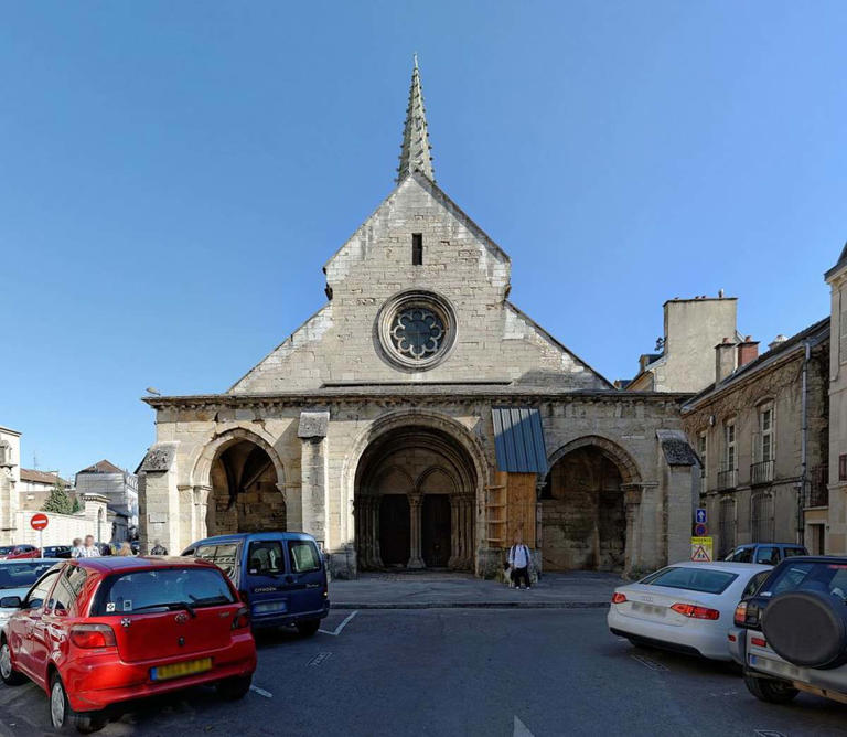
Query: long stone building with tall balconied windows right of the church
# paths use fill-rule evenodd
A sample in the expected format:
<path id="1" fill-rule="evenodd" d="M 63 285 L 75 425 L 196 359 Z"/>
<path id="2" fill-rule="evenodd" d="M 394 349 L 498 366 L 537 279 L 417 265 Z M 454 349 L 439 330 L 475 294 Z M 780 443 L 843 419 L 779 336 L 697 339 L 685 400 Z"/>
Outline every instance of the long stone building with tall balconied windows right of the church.
<path id="1" fill-rule="evenodd" d="M 749 338 L 727 337 L 712 351 L 714 382 L 684 404 L 683 423 L 700 457 L 716 553 L 750 542 L 823 551 L 829 319 L 762 355 Z"/>

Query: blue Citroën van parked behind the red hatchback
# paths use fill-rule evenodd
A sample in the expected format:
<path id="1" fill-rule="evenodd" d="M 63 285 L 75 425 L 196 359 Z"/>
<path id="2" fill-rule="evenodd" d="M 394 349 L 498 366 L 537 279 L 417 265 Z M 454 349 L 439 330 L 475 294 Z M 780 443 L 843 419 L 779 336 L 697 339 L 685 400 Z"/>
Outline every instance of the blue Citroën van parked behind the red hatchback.
<path id="1" fill-rule="evenodd" d="M 192 543 L 183 555 L 211 560 L 250 607 L 254 629 L 293 624 L 312 635 L 330 611 L 326 566 L 311 535 L 256 532 Z"/>

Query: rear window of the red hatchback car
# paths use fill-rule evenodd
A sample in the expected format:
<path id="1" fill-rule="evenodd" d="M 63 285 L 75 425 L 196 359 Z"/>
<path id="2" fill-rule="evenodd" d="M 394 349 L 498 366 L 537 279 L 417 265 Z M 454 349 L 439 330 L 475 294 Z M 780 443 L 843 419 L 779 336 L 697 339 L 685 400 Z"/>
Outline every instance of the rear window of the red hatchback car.
<path id="1" fill-rule="evenodd" d="M 106 578 L 92 615 L 156 612 L 184 605 L 200 609 L 234 601 L 224 574 L 216 568 L 153 568 Z"/>

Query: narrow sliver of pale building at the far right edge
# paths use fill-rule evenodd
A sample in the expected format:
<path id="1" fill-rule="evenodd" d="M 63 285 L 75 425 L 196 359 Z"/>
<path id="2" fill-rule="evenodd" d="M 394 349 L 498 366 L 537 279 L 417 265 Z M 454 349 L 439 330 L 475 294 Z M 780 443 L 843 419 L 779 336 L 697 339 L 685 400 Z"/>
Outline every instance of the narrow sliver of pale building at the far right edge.
<path id="1" fill-rule="evenodd" d="M 826 552 L 847 554 L 847 245 L 826 282 L 832 291 L 829 351 L 829 469 Z"/>

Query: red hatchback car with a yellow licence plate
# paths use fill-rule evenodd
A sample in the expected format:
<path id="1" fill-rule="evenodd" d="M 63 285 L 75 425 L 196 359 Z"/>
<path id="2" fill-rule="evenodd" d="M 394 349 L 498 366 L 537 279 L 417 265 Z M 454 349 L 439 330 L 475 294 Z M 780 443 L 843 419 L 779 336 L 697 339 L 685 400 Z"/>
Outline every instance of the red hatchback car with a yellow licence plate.
<path id="1" fill-rule="evenodd" d="M 0 632 L 0 677 L 44 688 L 56 729 L 96 731 L 112 705 L 199 684 L 240 698 L 256 670 L 249 610 L 203 560 L 67 560 L 0 607 L 19 608 Z"/>

